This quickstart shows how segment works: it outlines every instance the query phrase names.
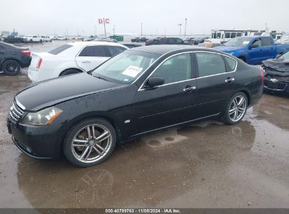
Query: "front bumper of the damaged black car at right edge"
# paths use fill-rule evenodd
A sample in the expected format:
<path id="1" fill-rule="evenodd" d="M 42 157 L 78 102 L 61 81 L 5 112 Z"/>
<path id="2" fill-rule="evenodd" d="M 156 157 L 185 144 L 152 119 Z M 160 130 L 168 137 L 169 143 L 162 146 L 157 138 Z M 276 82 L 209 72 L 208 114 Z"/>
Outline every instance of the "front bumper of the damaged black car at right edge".
<path id="1" fill-rule="evenodd" d="M 278 92 L 289 94 L 289 81 L 278 80 L 277 78 L 265 77 L 264 90 L 267 92 Z"/>

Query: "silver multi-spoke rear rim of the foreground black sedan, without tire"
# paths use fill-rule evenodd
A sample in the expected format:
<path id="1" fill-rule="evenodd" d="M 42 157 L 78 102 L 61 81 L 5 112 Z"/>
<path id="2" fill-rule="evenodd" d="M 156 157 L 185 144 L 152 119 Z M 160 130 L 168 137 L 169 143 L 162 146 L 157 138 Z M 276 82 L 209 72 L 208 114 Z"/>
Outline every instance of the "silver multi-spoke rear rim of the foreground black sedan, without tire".
<path id="1" fill-rule="evenodd" d="M 233 122 L 237 122 L 246 112 L 247 101 L 243 95 L 236 96 L 233 101 L 231 101 L 229 108 L 229 118 Z"/>

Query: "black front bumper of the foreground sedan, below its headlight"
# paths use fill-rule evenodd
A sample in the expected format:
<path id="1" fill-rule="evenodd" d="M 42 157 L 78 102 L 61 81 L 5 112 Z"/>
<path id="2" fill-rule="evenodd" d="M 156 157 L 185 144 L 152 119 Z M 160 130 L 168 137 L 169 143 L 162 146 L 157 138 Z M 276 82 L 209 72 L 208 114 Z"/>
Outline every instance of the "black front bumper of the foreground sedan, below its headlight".
<path id="1" fill-rule="evenodd" d="M 56 159 L 61 156 L 62 134 L 51 133 L 46 126 L 21 125 L 9 119 L 7 127 L 14 144 L 27 156 L 37 159 Z"/>

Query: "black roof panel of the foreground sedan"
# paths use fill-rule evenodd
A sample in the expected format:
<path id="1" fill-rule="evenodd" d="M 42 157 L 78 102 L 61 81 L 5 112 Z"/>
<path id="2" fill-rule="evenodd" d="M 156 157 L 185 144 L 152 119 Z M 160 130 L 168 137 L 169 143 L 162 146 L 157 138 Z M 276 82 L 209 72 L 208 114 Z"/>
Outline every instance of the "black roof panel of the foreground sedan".
<path id="1" fill-rule="evenodd" d="M 158 44 L 158 45 L 149 45 L 149 46 L 140 46 L 134 48 L 134 51 L 143 51 L 148 53 L 155 54 L 165 54 L 170 51 L 177 50 L 186 50 L 186 49 L 195 49 L 195 50 L 207 50 L 207 48 L 202 48 L 200 46 L 192 46 L 192 45 L 183 45 L 183 44 Z"/>

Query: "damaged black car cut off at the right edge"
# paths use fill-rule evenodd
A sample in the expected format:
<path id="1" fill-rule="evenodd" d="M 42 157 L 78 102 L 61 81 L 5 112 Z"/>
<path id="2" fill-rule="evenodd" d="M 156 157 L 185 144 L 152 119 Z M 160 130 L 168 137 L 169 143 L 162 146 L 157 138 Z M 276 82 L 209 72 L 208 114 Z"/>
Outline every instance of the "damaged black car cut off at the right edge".
<path id="1" fill-rule="evenodd" d="M 265 91 L 289 94 L 289 51 L 262 63 Z"/>

